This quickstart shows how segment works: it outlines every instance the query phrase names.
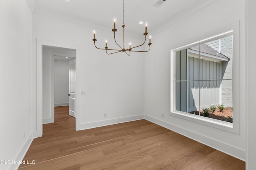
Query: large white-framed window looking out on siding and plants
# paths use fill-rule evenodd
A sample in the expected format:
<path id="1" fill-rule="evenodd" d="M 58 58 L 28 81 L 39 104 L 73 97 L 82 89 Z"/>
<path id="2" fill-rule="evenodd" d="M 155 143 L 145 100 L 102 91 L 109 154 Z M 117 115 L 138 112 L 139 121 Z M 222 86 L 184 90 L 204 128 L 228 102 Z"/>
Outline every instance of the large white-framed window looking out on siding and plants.
<path id="1" fill-rule="evenodd" d="M 233 31 L 172 50 L 172 66 L 171 115 L 232 128 Z"/>

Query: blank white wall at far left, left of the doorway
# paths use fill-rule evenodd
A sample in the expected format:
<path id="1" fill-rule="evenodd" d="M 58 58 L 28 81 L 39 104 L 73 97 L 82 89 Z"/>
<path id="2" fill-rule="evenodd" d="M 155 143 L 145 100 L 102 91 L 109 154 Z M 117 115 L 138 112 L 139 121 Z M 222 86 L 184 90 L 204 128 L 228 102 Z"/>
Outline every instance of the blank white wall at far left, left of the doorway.
<path id="1" fill-rule="evenodd" d="M 32 142 L 32 13 L 27 1 L 1 0 L 0 21 L 0 160 L 18 161 Z M 0 169 L 18 166 L 7 162 Z"/>

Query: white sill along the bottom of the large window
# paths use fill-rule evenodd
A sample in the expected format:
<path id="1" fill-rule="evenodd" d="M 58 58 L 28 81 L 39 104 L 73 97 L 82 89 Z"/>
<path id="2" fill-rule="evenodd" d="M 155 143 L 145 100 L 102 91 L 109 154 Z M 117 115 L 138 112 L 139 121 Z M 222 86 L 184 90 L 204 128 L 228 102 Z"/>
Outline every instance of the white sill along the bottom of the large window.
<path id="1" fill-rule="evenodd" d="M 224 130 L 224 131 L 239 134 L 238 129 L 237 128 L 234 129 L 233 128 L 233 123 L 230 123 L 230 122 L 221 121 L 221 120 L 217 120 L 217 119 L 212 119 L 212 118 L 209 118 L 209 117 L 203 117 L 203 116 L 199 116 L 199 115 L 193 115 L 193 114 L 185 113 L 185 112 L 182 112 L 182 111 L 171 112 L 171 113 L 169 113 L 169 115 L 179 117 L 181 119 L 186 119 L 188 121 L 193 121 L 193 122 L 196 122 L 196 123 L 200 123 L 200 124 L 203 124 L 203 125 L 206 125 L 206 126 L 214 127 L 214 128 L 217 128 L 217 129 L 221 129 L 221 130 Z"/>

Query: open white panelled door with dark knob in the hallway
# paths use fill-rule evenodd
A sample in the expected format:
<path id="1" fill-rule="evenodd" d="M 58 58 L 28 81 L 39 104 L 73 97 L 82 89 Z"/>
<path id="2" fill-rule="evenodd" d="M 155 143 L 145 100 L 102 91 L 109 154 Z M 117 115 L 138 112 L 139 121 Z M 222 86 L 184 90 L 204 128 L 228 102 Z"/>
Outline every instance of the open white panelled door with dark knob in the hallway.
<path id="1" fill-rule="evenodd" d="M 76 117 L 76 59 L 69 61 L 69 115 Z"/>

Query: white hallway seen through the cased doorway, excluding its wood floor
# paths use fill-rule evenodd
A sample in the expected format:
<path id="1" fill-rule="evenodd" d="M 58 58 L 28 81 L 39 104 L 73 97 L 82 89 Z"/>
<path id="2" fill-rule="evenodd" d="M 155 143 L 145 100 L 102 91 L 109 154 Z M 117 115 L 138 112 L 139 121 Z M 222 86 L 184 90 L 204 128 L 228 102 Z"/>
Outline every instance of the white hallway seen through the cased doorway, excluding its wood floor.
<path id="1" fill-rule="evenodd" d="M 75 113 L 76 67 L 74 61 L 76 61 L 74 49 L 42 46 L 42 124 L 54 123 L 54 107 L 69 106 Z M 72 69 L 71 79 L 70 68 Z M 70 96 L 70 88 L 72 88 L 72 96 Z M 74 114 L 72 116 L 75 117 Z"/>

